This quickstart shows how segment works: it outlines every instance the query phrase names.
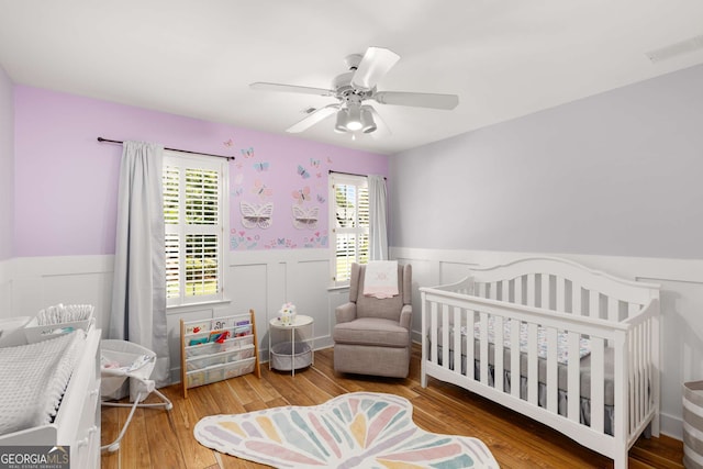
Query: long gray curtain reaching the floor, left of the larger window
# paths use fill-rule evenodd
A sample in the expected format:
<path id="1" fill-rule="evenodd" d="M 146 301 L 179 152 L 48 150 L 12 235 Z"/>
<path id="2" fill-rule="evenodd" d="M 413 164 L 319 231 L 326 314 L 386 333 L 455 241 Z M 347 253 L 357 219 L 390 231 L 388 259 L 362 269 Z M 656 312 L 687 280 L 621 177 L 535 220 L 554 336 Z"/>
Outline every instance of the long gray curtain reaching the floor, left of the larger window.
<path id="1" fill-rule="evenodd" d="M 109 338 L 157 355 L 152 379 L 169 384 L 161 175 L 164 147 L 124 142 Z"/>

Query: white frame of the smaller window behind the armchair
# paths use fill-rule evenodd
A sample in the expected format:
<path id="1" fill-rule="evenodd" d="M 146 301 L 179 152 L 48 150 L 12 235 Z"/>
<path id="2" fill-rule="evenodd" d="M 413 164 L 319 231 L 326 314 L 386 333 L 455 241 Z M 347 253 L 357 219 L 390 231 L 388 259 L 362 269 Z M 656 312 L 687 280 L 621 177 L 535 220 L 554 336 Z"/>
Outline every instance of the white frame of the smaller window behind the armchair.
<path id="1" fill-rule="evenodd" d="M 355 226 L 344 227 L 338 226 L 337 224 L 337 193 L 336 187 L 338 185 L 354 186 L 356 188 L 356 201 L 358 205 L 359 198 L 361 197 L 361 191 L 359 189 L 364 189 L 366 191 L 366 225 L 359 223 L 359 212 L 358 210 L 355 213 Z M 369 260 L 370 249 L 369 249 L 369 241 L 370 241 L 370 217 L 369 217 L 369 199 L 368 199 L 368 177 L 362 175 L 348 175 L 343 172 L 330 172 L 328 177 L 328 198 L 330 201 L 330 248 L 331 248 L 331 261 L 330 261 L 330 278 L 331 284 L 333 288 L 343 288 L 349 286 L 349 271 L 352 263 L 358 264 L 367 264 Z M 347 270 L 346 277 L 338 277 L 338 261 L 341 256 L 338 255 L 338 241 L 337 237 L 339 235 L 355 235 L 355 252 L 354 256 L 344 256 L 347 259 Z M 366 249 L 362 249 L 359 244 L 364 244 L 362 241 L 359 241 L 362 237 L 366 238 Z"/>

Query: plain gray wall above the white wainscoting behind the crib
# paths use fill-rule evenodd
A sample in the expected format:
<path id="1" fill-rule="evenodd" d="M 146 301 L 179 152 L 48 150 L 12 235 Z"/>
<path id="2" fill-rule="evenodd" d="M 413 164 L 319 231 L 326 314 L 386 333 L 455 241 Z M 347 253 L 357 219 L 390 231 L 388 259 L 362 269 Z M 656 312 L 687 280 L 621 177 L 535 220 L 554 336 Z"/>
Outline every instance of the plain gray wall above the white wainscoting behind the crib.
<path id="1" fill-rule="evenodd" d="M 393 155 L 390 180 L 392 246 L 703 258 L 703 66 Z"/>

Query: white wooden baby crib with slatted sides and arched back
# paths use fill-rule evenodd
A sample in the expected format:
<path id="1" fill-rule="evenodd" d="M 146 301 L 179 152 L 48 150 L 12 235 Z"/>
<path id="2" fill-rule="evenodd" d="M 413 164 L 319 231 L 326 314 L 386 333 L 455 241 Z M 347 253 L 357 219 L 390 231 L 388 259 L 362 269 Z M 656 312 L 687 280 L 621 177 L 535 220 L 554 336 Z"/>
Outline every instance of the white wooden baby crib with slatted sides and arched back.
<path id="1" fill-rule="evenodd" d="M 616 469 L 648 426 L 659 435 L 658 286 L 525 258 L 420 291 L 423 387 L 434 377 L 481 394 Z"/>

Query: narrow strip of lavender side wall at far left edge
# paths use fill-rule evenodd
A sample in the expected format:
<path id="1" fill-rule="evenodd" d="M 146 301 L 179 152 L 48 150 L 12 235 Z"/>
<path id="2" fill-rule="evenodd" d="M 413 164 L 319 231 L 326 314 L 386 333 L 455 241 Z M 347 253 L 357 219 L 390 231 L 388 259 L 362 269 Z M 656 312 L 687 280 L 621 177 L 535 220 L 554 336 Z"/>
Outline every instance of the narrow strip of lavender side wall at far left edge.
<path id="1" fill-rule="evenodd" d="M 14 97 L 0 66 L 0 260 L 12 257 L 14 219 Z"/>

